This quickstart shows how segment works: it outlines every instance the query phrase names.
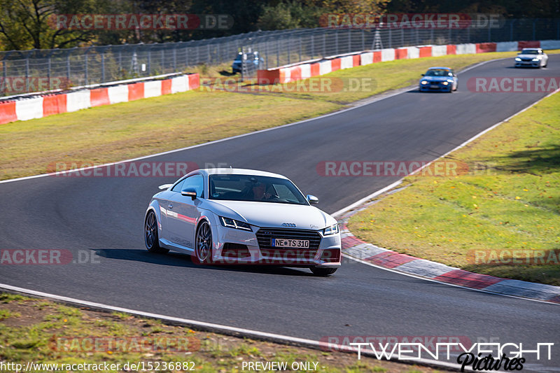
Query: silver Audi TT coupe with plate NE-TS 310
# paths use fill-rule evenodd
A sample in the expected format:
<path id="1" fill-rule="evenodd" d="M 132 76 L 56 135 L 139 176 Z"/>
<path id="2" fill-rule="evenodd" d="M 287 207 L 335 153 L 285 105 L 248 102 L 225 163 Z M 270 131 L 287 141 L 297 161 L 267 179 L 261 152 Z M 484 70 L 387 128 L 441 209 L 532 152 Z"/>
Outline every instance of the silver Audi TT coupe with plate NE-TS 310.
<path id="1" fill-rule="evenodd" d="M 285 176 L 250 169 L 198 169 L 161 185 L 144 219 L 148 251 L 188 253 L 202 264 L 308 267 L 335 273 L 337 220 Z"/>

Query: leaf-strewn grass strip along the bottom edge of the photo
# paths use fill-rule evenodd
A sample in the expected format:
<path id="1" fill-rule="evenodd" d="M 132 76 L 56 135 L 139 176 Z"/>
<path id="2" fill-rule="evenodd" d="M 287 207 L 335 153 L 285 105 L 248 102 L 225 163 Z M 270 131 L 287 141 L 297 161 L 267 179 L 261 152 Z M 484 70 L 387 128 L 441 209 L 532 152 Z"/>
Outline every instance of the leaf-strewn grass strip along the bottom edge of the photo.
<path id="1" fill-rule="evenodd" d="M 241 372 L 243 362 L 317 363 L 317 372 L 437 372 L 356 354 L 301 347 L 199 332 L 182 326 L 113 312 L 66 307 L 55 302 L 0 293 L 0 361 L 61 364 L 120 364 L 143 362 L 147 371 Z M 165 363 L 181 364 L 181 370 Z M 295 365 L 294 365 L 295 366 Z M 167 369 L 164 369 L 167 368 Z M 6 370 L 13 372 L 13 370 Z M 38 370 L 34 370 L 38 371 Z M 90 370 L 79 370 L 90 372 Z M 140 370 L 126 370 L 126 372 Z M 266 372 L 266 370 L 263 370 Z"/>

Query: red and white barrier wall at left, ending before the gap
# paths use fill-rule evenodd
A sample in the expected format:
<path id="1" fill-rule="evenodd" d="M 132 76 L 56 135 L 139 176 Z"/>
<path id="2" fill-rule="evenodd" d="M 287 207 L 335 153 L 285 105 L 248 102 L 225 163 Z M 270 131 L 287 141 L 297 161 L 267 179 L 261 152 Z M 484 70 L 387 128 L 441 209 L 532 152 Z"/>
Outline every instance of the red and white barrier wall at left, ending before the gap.
<path id="1" fill-rule="evenodd" d="M 0 124 L 15 120 L 43 118 L 48 115 L 156 97 L 162 94 L 185 92 L 198 87 L 200 87 L 200 76 L 195 73 L 169 79 L 0 101 Z"/>

